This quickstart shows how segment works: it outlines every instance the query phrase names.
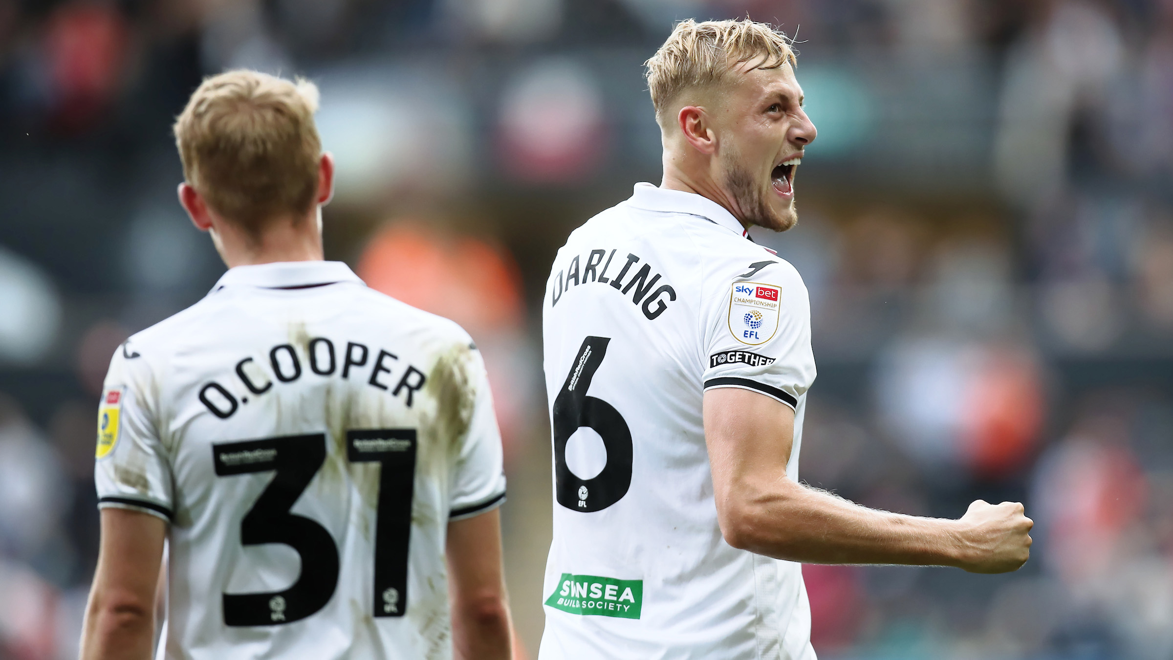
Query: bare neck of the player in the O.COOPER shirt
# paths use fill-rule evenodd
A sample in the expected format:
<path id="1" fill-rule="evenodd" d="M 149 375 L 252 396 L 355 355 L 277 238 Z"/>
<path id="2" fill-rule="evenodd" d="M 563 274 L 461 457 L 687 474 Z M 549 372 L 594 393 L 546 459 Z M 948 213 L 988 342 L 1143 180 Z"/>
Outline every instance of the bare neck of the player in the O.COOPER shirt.
<path id="1" fill-rule="evenodd" d="M 323 261 L 321 220 L 318 210 L 300 222 L 273 222 L 257 238 L 236 227 L 217 223 L 212 241 L 229 268 L 286 261 Z"/>

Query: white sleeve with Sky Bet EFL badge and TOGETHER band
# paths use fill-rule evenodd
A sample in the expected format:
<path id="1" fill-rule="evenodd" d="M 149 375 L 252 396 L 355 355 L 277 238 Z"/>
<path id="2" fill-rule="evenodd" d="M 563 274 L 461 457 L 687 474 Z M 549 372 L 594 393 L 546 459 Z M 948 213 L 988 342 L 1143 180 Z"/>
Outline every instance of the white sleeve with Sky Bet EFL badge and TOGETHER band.
<path id="1" fill-rule="evenodd" d="M 704 388 L 754 390 L 796 408 L 814 382 L 811 303 L 781 260 L 739 264 L 705 283 Z"/>

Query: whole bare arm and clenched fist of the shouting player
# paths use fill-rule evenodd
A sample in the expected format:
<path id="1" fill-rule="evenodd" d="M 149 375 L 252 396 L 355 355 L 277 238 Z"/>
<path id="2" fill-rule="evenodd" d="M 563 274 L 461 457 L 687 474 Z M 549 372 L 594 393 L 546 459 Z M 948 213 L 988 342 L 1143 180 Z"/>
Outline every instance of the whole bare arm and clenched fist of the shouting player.
<path id="1" fill-rule="evenodd" d="M 957 566 L 1016 571 L 1030 557 L 1023 505 L 976 500 L 960 520 L 874 511 L 786 476 L 794 411 L 733 388 L 705 392 L 705 442 L 725 540 L 808 564 Z"/>

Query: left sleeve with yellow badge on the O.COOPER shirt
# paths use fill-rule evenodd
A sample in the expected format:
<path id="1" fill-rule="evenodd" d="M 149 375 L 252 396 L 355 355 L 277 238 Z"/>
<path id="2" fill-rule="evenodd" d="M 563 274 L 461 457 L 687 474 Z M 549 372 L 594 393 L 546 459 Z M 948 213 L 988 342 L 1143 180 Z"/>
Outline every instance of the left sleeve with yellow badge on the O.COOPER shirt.
<path id="1" fill-rule="evenodd" d="M 149 392 L 156 391 L 147 361 L 130 344 L 110 361 L 97 410 L 94 481 L 99 507 L 133 509 L 170 521 L 174 506 L 171 466 L 160 442 Z"/>

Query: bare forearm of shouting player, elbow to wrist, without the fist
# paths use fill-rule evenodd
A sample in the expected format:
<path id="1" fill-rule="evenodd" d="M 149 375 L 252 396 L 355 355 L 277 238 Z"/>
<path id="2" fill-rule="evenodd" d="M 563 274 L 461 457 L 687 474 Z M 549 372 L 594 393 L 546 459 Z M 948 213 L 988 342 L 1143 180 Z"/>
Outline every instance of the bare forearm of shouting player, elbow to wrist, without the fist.
<path id="1" fill-rule="evenodd" d="M 789 479 L 757 489 L 732 507 L 733 543 L 807 564 L 958 566 L 965 543 L 957 520 L 875 511 Z M 725 525 L 723 525 L 725 526 Z"/>

